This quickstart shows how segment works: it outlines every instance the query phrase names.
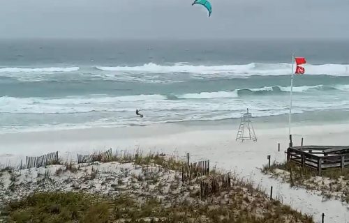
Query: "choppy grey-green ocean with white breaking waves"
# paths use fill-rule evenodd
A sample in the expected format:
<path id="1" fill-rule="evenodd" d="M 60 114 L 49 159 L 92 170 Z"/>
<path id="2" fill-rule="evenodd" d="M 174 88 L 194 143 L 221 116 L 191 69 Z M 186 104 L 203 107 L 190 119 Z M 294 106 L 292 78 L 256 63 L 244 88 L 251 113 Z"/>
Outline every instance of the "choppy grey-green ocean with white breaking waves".
<path id="1" fill-rule="evenodd" d="M 349 119 L 348 43 L 0 40 L 0 132 L 285 116 L 292 53 L 307 61 L 292 112 Z"/>

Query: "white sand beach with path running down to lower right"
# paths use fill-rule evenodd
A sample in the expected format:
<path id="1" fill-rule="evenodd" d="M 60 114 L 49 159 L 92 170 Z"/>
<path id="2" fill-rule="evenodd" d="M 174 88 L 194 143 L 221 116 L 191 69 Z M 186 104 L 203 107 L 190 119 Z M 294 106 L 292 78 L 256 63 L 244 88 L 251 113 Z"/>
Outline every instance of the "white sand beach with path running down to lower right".
<path id="1" fill-rule="evenodd" d="M 236 123 L 236 122 L 235 122 Z M 15 164 L 25 155 L 42 155 L 59 151 L 60 156 L 73 157 L 76 153 L 88 153 L 112 147 L 113 150 L 135 148 L 184 156 L 191 153 L 192 160 L 209 159 L 211 167 L 236 170 L 246 178 L 253 178 L 269 193 L 274 187 L 274 196 L 281 195 L 283 203 L 314 216 L 320 222 L 325 213 L 325 222 L 349 222 L 348 204 L 340 201 L 322 202 L 322 197 L 303 189 L 292 189 L 288 184 L 269 178 L 257 168 L 267 164 L 267 155 L 272 160 L 284 160 L 288 146 L 288 128 L 276 128 L 265 123 L 255 124 L 257 142 L 235 141 L 237 125 L 153 125 L 131 128 L 95 128 L 86 130 L 60 130 L 50 132 L 23 132 L 0 134 L 0 162 Z M 349 145 L 349 125 L 297 125 L 292 128 L 294 144 Z M 277 144 L 281 143 L 281 152 Z"/>

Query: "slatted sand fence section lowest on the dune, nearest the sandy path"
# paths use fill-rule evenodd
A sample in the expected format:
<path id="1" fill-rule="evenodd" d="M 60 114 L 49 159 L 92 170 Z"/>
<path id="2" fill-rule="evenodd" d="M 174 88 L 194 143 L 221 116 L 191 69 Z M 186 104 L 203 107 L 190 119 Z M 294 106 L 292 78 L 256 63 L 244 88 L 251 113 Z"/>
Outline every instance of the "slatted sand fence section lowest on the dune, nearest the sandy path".
<path id="1" fill-rule="evenodd" d="M 200 183 L 200 195 L 201 199 L 211 197 L 217 192 L 227 191 L 231 185 L 230 173 L 211 176 L 206 180 L 202 180 Z"/>

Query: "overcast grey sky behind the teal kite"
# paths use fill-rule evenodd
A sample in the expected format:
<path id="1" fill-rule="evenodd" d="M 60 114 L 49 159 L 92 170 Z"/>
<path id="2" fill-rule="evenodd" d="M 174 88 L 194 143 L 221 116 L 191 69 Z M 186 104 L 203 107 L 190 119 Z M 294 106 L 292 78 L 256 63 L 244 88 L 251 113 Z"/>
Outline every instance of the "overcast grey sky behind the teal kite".
<path id="1" fill-rule="evenodd" d="M 1 0 L 0 38 L 349 37 L 349 0 Z"/>

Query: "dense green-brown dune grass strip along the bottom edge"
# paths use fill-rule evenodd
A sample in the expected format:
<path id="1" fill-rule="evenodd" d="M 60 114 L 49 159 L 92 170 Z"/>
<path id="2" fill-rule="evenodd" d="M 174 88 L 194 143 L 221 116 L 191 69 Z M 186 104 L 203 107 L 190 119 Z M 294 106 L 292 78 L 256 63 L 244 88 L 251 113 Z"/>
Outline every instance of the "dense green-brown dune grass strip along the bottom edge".
<path id="1" fill-rule="evenodd" d="M 264 215 L 250 213 L 242 199 L 233 199 L 225 205 L 202 203 L 193 206 L 186 200 L 164 206 L 154 197 L 136 201 L 121 196 L 107 199 L 74 192 L 46 192 L 33 194 L 27 199 L 10 203 L 2 213 L 6 222 L 290 222 L 312 223 L 312 217 L 302 215 L 289 206 L 274 201 Z M 255 204 L 258 206 L 258 204 Z M 244 206 L 242 209 L 240 209 Z M 239 210 L 240 209 L 240 210 Z"/>

